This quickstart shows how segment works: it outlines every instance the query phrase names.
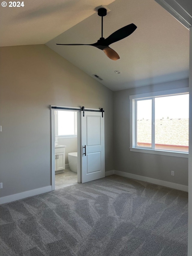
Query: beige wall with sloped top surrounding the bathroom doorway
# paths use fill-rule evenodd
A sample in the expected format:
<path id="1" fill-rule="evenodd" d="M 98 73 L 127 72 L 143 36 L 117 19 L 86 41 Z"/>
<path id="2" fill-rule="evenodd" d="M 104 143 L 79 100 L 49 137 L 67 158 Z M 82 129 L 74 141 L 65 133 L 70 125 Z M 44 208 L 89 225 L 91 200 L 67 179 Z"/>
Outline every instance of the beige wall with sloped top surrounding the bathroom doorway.
<path id="1" fill-rule="evenodd" d="M 0 197 L 51 185 L 49 105 L 105 110 L 113 170 L 113 92 L 45 45 L 1 47 Z"/>

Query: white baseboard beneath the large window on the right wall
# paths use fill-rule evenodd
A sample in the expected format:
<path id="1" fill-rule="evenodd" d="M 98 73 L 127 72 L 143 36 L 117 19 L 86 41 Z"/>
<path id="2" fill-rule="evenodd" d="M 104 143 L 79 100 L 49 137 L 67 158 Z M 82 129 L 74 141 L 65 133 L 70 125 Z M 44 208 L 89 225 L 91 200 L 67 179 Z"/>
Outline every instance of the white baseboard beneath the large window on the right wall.
<path id="1" fill-rule="evenodd" d="M 146 181 L 146 182 L 153 183 L 156 185 L 161 185 L 161 186 L 168 187 L 168 188 L 175 188 L 178 190 L 188 192 L 188 186 L 177 184 L 177 183 L 172 183 L 172 182 L 168 182 L 168 181 L 164 181 L 164 180 L 160 180 L 160 179 L 152 179 L 149 177 L 140 176 L 140 175 L 136 175 L 136 174 L 132 174 L 132 173 L 125 173 L 125 172 L 116 171 L 116 170 L 114 170 L 114 174 L 123 176 L 123 177 L 127 177 L 130 179 L 138 179 L 138 180 Z"/>

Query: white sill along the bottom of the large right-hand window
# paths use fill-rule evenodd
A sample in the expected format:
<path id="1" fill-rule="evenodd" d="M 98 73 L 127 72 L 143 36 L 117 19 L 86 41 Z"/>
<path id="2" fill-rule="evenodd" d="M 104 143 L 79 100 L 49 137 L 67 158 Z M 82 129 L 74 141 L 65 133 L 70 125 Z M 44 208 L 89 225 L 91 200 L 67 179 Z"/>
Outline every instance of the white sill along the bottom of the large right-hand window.
<path id="1" fill-rule="evenodd" d="M 155 155 L 168 155 L 168 156 L 184 157 L 184 158 L 188 158 L 188 155 L 189 155 L 189 153 L 187 153 L 187 152 L 173 152 L 173 151 L 165 151 L 165 150 L 158 150 L 158 149 L 130 148 L 130 151 L 147 153 L 147 154 L 155 154 Z"/>

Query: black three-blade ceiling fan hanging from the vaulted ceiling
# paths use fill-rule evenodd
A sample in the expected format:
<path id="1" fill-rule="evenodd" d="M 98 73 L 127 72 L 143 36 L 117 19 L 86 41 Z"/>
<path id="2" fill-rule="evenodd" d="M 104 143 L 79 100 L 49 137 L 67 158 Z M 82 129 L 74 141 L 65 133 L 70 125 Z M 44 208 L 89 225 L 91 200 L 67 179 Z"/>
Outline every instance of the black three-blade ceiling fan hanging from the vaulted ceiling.
<path id="1" fill-rule="evenodd" d="M 94 47 L 97 47 L 100 50 L 103 50 L 104 53 L 112 60 L 120 59 L 119 55 L 109 47 L 110 44 L 113 44 L 125 37 L 128 37 L 131 35 L 135 29 L 137 29 L 137 26 L 135 24 L 131 23 L 121 29 L 118 29 L 116 32 L 111 34 L 108 38 L 103 37 L 103 17 L 107 15 L 107 9 L 105 8 L 99 8 L 98 9 L 98 15 L 102 17 L 101 20 L 101 38 L 97 41 L 97 43 L 94 44 L 57 44 L 57 45 L 91 45 Z"/>

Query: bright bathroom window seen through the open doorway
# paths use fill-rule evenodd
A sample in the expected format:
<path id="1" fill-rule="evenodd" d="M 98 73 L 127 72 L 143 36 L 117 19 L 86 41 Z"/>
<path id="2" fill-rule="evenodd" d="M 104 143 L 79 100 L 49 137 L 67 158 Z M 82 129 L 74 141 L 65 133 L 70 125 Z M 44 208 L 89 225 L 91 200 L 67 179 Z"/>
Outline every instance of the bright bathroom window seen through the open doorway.
<path id="1" fill-rule="evenodd" d="M 77 137 L 77 112 L 55 111 L 55 136 L 60 139 Z"/>

